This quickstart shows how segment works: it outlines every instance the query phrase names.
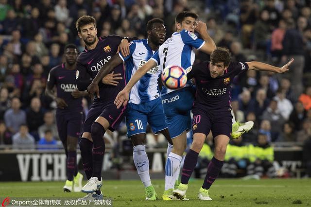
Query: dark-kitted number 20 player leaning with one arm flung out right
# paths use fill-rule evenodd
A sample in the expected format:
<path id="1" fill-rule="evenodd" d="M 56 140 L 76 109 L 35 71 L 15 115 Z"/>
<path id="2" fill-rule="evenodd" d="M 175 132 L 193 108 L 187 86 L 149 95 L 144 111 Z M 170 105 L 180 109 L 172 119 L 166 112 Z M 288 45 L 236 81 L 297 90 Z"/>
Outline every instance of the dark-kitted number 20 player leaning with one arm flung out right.
<path id="1" fill-rule="evenodd" d="M 281 68 L 260 62 L 231 62 L 230 53 L 224 48 L 217 48 L 210 56 L 210 62 L 202 62 L 188 69 L 188 78 L 195 79 L 196 99 L 192 108 L 193 142 L 188 151 L 181 183 L 173 194 L 182 199 L 188 189 L 188 181 L 197 163 L 198 155 L 211 130 L 215 142 L 214 157 L 211 159 L 204 183 L 199 190 L 200 200 L 211 200 L 208 190 L 213 184 L 224 163 L 225 151 L 229 142 L 232 115 L 230 106 L 230 88 L 233 78 L 247 70 L 264 70 L 283 73 L 289 70 L 292 59 Z"/>

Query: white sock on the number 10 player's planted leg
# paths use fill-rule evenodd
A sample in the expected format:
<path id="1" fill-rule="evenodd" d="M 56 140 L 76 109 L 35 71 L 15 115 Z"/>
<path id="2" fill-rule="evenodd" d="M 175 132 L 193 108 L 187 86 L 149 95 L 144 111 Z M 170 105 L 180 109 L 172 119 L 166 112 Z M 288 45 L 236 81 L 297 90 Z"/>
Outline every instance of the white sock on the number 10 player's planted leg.
<path id="1" fill-rule="evenodd" d="M 146 154 L 145 145 L 136 145 L 133 147 L 133 160 L 137 169 L 138 175 L 145 188 L 151 186 L 151 180 L 149 175 L 149 159 Z"/>

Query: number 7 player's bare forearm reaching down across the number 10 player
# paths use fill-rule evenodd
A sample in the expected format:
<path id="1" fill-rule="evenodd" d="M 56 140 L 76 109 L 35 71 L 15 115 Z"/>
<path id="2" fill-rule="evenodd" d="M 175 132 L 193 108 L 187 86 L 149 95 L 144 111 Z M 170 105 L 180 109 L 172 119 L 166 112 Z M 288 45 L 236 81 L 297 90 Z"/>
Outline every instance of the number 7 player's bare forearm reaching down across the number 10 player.
<path id="1" fill-rule="evenodd" d="M 156 62 L 152 59 L 148 60 L 145 65 L 143 65 L 142 67 L 140 67 L 132 76 L 132 78 L 130 79 L 130 81 L 127 83 L 127 85 L 123 88 L 123 90 L 121 90 L 115 101 L 114 104 L 117 105 L 117 108 L 120 108 L 121 105 L 123 104 L 123 106 L 126 106 L 128 100 L 129 100 L 129 94 L 130 91 L 132 89 L 132 87 L 138 82 L 138 80 L 144 75 L 146 74 L 150 69 L 154 68 L 155 66 L 157 66 Z"/>

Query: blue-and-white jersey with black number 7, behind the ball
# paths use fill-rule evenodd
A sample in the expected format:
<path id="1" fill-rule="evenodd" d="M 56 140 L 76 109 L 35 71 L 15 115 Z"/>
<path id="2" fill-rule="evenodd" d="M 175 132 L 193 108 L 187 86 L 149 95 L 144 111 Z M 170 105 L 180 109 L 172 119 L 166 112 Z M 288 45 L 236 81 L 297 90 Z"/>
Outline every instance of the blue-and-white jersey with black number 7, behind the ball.
<path id="1" fill-rule="evenodd" d="M 155 52 L 152 59 L 157 62 L 157 65 L 162 70 L 172 65 L 187 69 L 194 62 L 194 48 L 200 49 L 204 43 L 204 40 L 187 30 L 182 30 L 179 33 L 175 32 L 172 37 L 168 38 L 159 47 L 159 50 Z M 186 86 L 190 86 L 190 81 L 187 82 Z M 172 91 L 174 90 L 163 87 L 161 95 Z"/>

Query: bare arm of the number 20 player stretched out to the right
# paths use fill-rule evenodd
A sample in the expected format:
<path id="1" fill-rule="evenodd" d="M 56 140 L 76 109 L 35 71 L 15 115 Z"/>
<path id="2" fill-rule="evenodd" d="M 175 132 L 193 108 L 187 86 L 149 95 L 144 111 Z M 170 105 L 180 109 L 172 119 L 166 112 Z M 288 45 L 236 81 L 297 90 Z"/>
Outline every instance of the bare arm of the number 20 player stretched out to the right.
<path id="1" fill-rule="evenodd" d="M 261 63 L 261 62 L 246 62 L 248 65 L 248 69 L 254 69 L 254 70 L 261 70 L 261 71 L 271 71 L 271 72 L 276 72 L 276 73 L 284 73 L 289 70 L 289 67 L 292 65 L 294 62 L 294 59 L 292 58 L 287 64 L 285 64 L 283 67 L 275 67 L 266 63 Z"/>

